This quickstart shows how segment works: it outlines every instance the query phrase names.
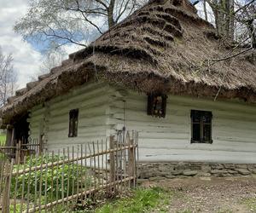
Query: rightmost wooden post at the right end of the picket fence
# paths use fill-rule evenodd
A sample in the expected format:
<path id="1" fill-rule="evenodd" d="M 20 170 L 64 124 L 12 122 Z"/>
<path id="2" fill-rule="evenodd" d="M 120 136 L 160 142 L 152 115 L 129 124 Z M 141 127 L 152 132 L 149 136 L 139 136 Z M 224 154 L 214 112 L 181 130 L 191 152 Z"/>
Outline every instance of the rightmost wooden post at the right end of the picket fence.
<path id="1" fill-rule="evenodd" d="M 134 147 L 134 140 L 129 139 L 129 150 L 128 150 L 128 175 L 129 177 L 133 177 L 132 182 L 135 187 L 136 181 L 136 153 Z"/>

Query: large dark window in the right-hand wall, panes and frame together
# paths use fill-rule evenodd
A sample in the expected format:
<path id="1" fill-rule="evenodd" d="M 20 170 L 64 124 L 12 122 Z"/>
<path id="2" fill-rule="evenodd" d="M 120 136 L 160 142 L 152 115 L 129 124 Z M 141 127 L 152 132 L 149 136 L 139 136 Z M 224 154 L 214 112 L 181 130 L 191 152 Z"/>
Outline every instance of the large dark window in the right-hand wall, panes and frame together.
<path id="1" fill-rule="evenodd" d="M 191 110 L 191 143 L 212 143 L 212 112 Z"/>

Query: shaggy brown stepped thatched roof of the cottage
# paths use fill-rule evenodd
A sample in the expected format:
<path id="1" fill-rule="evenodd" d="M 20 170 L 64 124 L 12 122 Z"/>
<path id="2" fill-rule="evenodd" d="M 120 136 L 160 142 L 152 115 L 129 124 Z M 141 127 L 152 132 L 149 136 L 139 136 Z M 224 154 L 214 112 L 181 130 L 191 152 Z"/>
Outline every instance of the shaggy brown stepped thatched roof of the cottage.
<path id="1" fill-rule="evenodd" d="M 243 51 L 236 48 L 232 55 Z M 129 89 L 256 100 L 255 50 L 230 55 L 186 0 L 154 0 L 88 48 L 27 83 L 1 109 L 5 124 L 74 86 L 103 79 Z"/>

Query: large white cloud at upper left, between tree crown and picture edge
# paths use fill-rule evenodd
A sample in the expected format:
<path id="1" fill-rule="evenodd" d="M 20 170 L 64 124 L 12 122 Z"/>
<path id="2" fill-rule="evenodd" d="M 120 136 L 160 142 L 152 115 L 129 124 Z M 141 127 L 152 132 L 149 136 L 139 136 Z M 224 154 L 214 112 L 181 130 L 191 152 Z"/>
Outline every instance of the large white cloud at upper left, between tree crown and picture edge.
<path id="1" fill-rule="evenodd" d="M 28 0 L 0 0 L 0 45 L 4 54 L 13 54 L 20 88 L 26 86 L 31 76 L 38 72 L 43 57 L 13 31 L 15 21 L 26 14 L 27 9 Z"/>

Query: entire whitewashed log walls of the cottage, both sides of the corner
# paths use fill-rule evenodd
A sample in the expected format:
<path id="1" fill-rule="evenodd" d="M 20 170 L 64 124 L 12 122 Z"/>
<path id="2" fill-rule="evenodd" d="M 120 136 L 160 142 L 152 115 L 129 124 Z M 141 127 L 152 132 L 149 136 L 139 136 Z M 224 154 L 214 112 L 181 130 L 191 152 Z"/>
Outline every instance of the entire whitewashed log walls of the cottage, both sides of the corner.
<path id="1" fill-rule="evenodd" d="M 78 137 L 69 138 L 69 111 L 79 108 Z M 190 110 L 211 111 L 212 144 L 190 144 Z M 90 83 L 34 107 L 31 137 L 44 132 L 48 150 L 105 139 L 117 130 L 139 132 L 139 159 L 256 164 L 256 107 L 169 95 L 166 118 L 147 115 L 147 95 Z"/>

